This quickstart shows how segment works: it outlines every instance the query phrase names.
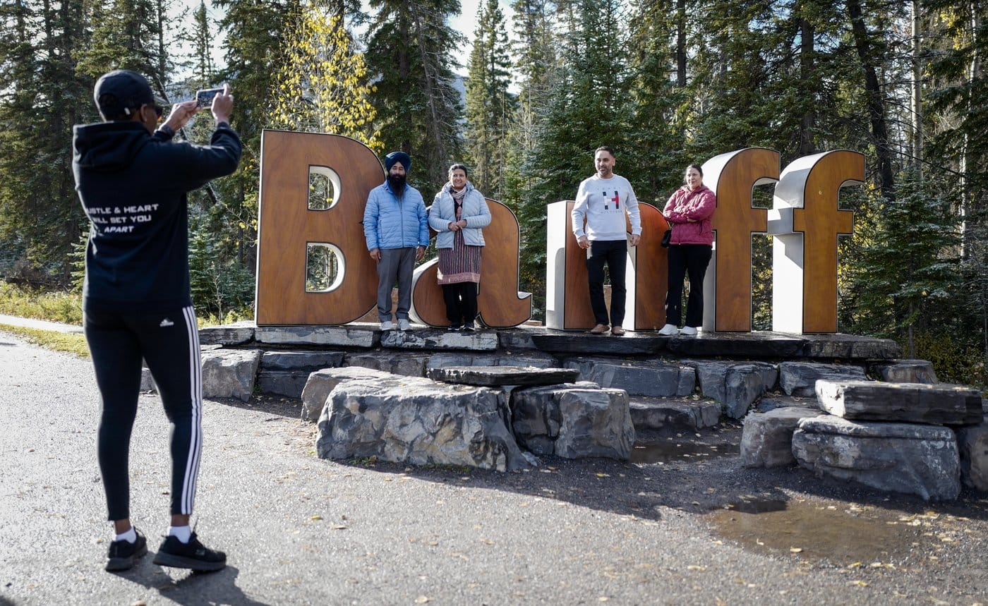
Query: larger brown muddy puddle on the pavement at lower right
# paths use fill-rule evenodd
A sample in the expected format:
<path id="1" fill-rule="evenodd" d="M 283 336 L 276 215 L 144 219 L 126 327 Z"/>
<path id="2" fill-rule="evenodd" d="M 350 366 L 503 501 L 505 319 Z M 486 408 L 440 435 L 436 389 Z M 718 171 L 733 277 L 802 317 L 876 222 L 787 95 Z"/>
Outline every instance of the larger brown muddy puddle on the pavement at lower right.
<path id="1" fill-rule="evenodd" d="M 718 535 L 762 553 L 841 567 L 901 565 L 922 554 L 920 530 L 900 511 L 755 497 L 710 515 Z"/>

